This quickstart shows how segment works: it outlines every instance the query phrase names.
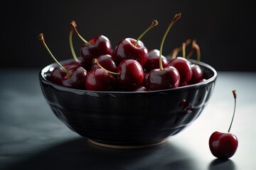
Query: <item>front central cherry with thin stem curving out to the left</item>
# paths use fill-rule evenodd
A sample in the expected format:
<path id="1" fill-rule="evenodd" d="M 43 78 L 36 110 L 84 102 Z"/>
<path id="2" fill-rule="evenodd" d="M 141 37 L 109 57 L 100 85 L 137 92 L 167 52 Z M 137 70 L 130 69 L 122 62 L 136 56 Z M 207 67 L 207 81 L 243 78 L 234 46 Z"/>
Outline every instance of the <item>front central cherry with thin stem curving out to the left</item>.
<path id="1" fill-rule="evenodd" d="M 105 69 L 97 62 L 97 59 L 94 61 L 100 68 Z M 107 69 L 105 69 L 105 71 L 110 72 Z M 119 88 L 125 91 L 134 91 L 134 89 L 142 85 L 144 80 L 142 65 L 132 59 L 123 60 L 117 67 L 117 72 L 110 73 L 117 75 Z"/>

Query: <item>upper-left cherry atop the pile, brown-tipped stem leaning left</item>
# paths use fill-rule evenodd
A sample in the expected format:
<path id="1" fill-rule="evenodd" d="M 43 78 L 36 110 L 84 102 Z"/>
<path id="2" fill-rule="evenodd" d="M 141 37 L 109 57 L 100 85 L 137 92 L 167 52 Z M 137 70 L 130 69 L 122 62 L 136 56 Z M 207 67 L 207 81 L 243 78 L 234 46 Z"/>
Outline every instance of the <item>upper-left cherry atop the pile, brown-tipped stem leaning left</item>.
<path id="1" fill-rule="evenodd" d="M 99 55 L 112 55 L 112 46 L 110 40 L 105 35 L 97 35 L 91 40 L 87 41 L 78 33 L 77 26 L 74 22 L 70 23 L 79 38 L 85 42 L 80 47 L 80 53 L 84 60 L 84 67 L 87 70 L 92 68 L 93 58 Z"/>

